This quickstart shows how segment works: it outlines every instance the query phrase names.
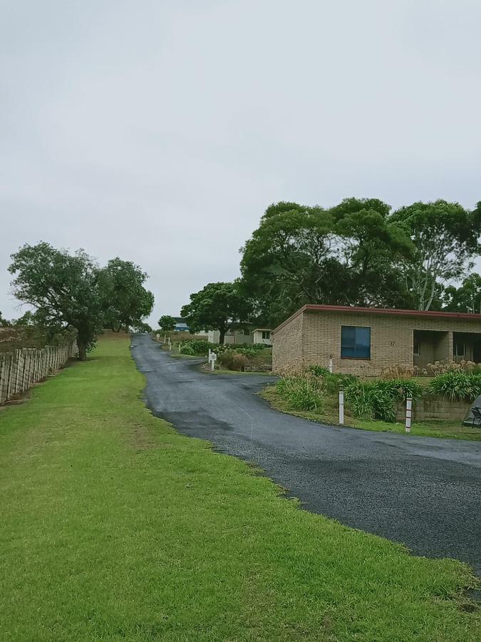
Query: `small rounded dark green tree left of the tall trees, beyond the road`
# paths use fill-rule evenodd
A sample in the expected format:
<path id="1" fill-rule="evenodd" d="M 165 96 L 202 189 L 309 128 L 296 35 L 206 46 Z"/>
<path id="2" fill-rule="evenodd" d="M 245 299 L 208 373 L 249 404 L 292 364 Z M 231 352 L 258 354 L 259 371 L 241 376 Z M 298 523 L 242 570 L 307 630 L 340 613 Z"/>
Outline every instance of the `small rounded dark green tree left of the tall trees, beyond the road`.
<path id="1" fill-rule="evenodd" d="M 249 302 L 239 292 L 237 282 L 208 283 L 200 292 L 190 295 L 190 303 L 180 314 L 192 332 L 219 330 L 219 343 L 224 343 L 227 330 L 237 327 L 249 316 Z"/>

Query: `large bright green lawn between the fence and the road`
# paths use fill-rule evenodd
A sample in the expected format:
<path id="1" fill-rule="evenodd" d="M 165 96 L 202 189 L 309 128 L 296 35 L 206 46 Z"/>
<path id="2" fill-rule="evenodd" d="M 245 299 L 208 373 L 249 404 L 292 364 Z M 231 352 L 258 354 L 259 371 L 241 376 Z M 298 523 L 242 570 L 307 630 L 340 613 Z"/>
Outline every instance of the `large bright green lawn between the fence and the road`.
<path id="1" fill-rule="evenodd" d="M 299 509 L 100 340 L 0 411 L 0 639 L 475 641 L 467 566 Z"/>

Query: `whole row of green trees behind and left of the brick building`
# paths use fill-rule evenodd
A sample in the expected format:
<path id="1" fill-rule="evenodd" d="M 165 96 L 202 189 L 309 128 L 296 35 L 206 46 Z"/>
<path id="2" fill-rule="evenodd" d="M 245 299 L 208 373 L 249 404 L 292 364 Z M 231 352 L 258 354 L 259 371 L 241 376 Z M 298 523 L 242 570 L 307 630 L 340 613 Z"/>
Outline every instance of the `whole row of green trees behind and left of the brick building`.
<path id="1" fill-rule="evenodd" d="M 305 303 L 480 312 L 480 235 L 481 203 L 275 203 L 241 248 L 242 277 L 193 293 L 182 315 L 223 337 L 247 321 L 274 327 Z"/>

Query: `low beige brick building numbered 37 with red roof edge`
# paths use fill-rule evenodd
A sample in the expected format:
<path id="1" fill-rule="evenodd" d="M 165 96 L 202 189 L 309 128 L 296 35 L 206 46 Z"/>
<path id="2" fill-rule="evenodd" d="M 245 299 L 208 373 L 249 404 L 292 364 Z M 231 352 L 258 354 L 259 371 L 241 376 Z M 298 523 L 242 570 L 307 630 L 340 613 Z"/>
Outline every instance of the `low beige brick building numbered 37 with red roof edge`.
<path id="1" fill-rule="evenodd" d="M 274 372 L 309 365 L 377 375 L 444 360 L 481 362 L 481 315 L 304 305 L 272 332 Z"/>

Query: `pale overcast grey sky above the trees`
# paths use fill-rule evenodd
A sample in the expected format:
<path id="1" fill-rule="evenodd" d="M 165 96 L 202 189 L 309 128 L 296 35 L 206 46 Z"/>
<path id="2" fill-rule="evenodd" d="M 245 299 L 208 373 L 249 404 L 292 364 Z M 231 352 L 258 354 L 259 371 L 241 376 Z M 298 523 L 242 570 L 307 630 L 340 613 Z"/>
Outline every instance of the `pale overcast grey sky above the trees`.
<path id="1" fill-rule="evenodd" d="M 23 243 L 142 265 L 152 320 L 267 205 L 481 200 L 479 0 L 0 0 L 0 310 Z"/>

